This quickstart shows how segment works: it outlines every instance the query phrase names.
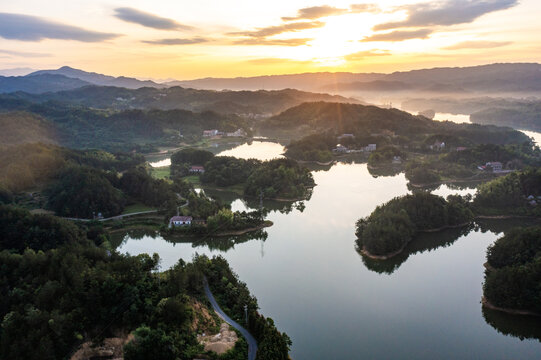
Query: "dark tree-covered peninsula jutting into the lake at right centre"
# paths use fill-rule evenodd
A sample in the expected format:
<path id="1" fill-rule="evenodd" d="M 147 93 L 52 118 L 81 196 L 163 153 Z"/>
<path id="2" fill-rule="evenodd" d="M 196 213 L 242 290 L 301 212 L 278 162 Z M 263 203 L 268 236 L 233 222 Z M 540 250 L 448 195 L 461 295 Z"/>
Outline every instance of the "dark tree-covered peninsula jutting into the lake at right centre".
<path id="1" fill-rule="evenodd" d="M 378 206 L 372 214 L 356 223 L 359 251 L 375 256 L 392 256 L 410 242 L 419 231 L 460 226 L 473 219 L 467 198 L 419 192 L 397 197 Z"/>

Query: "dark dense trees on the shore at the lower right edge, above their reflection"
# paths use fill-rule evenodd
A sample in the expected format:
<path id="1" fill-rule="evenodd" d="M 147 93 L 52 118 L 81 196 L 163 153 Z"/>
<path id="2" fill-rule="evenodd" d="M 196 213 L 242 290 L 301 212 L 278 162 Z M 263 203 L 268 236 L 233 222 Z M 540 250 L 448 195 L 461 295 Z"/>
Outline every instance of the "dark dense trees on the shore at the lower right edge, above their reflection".
<path id="1" fill-rule="evenodd" d="M 541 228 L 516 228 L 487 250 L 483 287 L 490 304 L 541 314 Z"/>

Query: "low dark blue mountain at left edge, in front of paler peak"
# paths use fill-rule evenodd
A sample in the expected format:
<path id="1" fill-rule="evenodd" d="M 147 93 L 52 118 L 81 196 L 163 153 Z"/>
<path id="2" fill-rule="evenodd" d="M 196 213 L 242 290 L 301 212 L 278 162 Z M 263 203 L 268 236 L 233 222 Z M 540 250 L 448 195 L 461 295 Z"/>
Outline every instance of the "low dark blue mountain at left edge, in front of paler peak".
<path id="1" fill-rule="evenodd" d="M 90 83 L 55 74 L 0 76 L 0 93 L 24 91 L 29 94 L 40 94 L 49 91 L 73 90 L 86 85 Z"/>

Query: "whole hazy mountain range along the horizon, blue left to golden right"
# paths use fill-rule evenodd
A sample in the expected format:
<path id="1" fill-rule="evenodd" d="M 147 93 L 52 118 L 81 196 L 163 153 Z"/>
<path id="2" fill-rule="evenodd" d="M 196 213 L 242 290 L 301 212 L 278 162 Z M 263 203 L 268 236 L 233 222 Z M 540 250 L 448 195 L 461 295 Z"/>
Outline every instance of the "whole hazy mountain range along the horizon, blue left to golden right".
<path id="1" fill-rule="evenodd" d="M 490 64 L 471 67 L 421 69 L 391 74 L 321 72 L 239 78 L 204 78 L 158 83 L 130 77 L 113 77 L 63 66 L 25 76 L 0 76 L 0 93 L 72 90 L 87 85 L 206 90 L 281 90 L 312 92 L 434 92 L 434 93 L 532 93 L 541 91 L 541 65 L 536 63 Z"/>

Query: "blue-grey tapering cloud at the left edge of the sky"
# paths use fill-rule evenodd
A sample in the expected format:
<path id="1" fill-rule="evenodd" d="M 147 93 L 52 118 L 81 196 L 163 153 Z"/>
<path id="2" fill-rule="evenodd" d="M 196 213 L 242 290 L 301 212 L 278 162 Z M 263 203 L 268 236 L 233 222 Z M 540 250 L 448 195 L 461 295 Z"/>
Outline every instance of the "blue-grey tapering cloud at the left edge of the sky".
<path id="1" fill-rule="evenodd" d="M 64 25 L 37 16 L 0 13 L 0 36 L 5 39 L 21 41 L 61 39 L 100 42 L 116 38 L 119 35 Z"/>

